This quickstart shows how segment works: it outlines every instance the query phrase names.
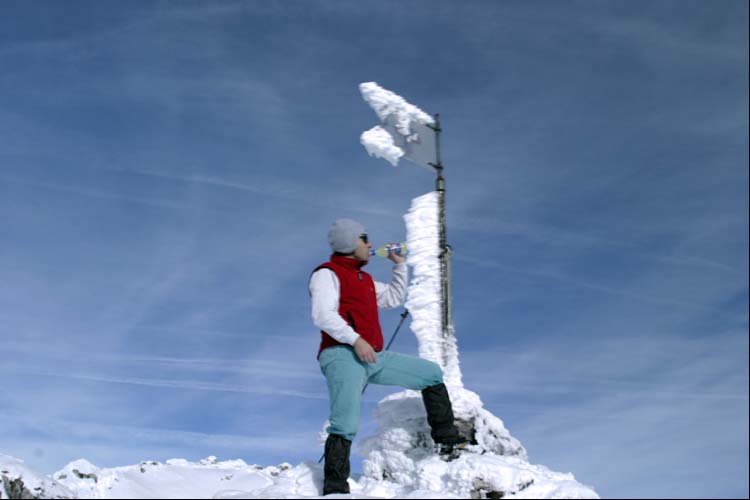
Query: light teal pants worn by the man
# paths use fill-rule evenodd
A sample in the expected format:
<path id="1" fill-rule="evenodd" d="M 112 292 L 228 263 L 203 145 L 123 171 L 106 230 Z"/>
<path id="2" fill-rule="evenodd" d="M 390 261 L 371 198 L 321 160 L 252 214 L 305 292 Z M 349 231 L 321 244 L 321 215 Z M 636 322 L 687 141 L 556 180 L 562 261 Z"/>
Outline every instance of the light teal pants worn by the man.
<path id="1" fill-rule="evenodd" d="M 320 371 L 326 377 L 331 401 L 329 434 L 354 440 L 365 384 L 398 385 L 421 391 L 443 382 L 442 370 L 432 361 L 390 351 L 376 356 L 376 363 L 364 363 L 348 345 L 329 347 L 320 353 Z"/>

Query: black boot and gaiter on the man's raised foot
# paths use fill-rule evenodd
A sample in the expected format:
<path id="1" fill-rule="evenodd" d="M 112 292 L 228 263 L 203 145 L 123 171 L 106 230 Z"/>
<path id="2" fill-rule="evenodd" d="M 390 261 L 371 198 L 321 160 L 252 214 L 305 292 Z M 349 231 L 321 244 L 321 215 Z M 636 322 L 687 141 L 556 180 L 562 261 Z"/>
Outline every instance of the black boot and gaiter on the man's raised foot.
<path id="1" fill-rule="evenodd" d="M 469 441 L 458 433 L 454 423 L 453 405 L 445 384 L 437 384 L 422 389 L 422 400 L 427 410 L 430 435 L 435 441 L 437 452 L 448 461 L 458 458 Z"/>

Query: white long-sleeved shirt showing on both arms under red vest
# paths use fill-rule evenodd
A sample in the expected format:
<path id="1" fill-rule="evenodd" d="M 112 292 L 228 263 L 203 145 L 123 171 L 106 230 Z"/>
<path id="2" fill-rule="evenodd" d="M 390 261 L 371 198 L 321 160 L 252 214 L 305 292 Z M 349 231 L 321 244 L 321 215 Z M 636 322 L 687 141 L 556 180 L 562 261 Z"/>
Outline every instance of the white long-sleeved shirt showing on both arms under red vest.
<path id="1" fill-rule="evenodd" d="M 393 279 L 390 283 L 375 281 L 379 308 L 390 309 L 404 303 L 407 275 L 406 264 L 396 264 L 393 266 Z M 336 273 L 326 268 L 318 269 L 310 278 L 309 289 L 315 326 L 342 344 L 354 345 L 359 334 L 339 314 L 341 285 Z"/>

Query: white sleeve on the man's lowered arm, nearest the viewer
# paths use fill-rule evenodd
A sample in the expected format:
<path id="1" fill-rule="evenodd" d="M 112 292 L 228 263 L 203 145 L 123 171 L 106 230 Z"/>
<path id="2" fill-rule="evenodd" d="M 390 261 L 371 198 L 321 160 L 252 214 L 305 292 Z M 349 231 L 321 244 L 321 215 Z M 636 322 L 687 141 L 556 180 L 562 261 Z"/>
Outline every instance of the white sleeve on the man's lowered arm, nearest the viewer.
<path id="1" fill-rule="evenodd" d="M 354 345 L 359 334 L 339 314 L 339 279 L 330 269 L 319 269 L 310 278 L 312 321 L 342 344 Z"/>

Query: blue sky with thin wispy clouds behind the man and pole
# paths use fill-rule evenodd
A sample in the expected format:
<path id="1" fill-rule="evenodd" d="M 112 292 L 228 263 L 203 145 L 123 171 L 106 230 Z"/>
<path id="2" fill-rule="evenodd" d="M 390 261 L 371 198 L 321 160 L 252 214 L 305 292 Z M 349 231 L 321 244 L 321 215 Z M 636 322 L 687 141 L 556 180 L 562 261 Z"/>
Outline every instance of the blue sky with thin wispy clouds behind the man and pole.
<path id="1" fill-rule="evenodd" d="M 317 460 L 328 225 L 433 187 L 359 144 L 376 81 L 441 114 L 464 383 L 531 462 L 747 497 L 746 2 L 1 10 L 0 452 Z"/>

